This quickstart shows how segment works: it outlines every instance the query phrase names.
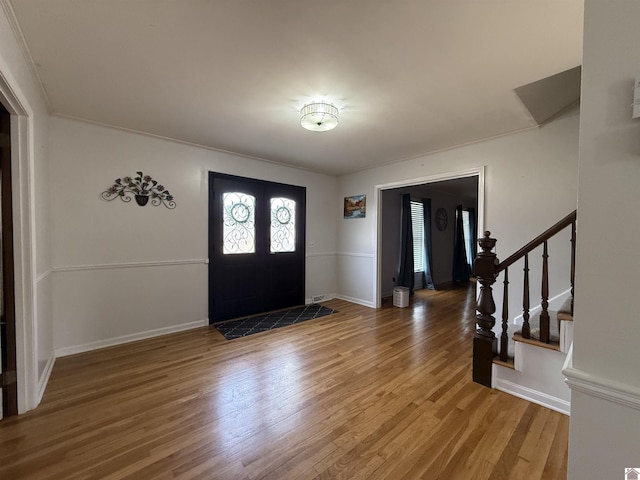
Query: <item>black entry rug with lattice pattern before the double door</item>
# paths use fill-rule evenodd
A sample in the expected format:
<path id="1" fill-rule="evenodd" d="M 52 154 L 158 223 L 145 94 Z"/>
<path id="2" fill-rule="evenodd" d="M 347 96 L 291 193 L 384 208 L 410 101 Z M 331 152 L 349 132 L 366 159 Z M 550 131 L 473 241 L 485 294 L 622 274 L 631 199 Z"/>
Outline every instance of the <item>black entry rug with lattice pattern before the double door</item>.
<path id="1" fill-rule="evenodd" d="M 281 310 L 279 312 L 265 313 L 253 317 L 230 320 L 214 325 L 216 329 L 224 335 L 227 340 L 246 337 L 254 333 L 266 332 L 274 328 L 286 327 L 294 323 L 304 322 L 313 318 L 320 318 L 336 313 L 337 310 L 312 303 L 303 307 L 296 307 L 291 310 Z"/>

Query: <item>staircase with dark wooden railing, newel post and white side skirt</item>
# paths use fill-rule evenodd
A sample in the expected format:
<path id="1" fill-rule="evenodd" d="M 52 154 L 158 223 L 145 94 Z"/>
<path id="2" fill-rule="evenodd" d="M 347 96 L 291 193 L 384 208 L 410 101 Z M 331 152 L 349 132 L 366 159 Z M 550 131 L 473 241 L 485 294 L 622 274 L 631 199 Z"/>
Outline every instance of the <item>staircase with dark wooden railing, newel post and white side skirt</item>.
<path id="1" fill-rule="evenodd" d="M 570 391 L 562 367 L 573 341 L 573 284 L 575 278 L 576 219 L 574 211 L 506 260 L 493 253 L 496 239 L 485 232 L 479 240 L 474 272 L 480 284 L 476 305 L 478 329 L 473 344 L 473 380 L 488 387 L 569 413 Z M 570 284 L 549 298 L 548 241 L 570 228 Z M 540 305 L 531 308 L 529 255 L 542 249 Z M 522 265 L 522 314 L 509 314 L 509 267 Z M 502 280 L 501 324 L 496 330 L 493 285 Z"/>

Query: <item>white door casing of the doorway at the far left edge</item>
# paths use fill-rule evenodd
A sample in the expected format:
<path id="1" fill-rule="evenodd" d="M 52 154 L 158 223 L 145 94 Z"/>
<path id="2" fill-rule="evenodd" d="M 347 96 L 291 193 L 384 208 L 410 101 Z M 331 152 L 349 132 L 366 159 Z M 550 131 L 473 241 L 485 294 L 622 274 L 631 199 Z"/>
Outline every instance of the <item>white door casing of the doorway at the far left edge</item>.
<path id="1" fill-rule="evenodd" d="M 44 394 L 53 367 L 53 352 L 47 366 L 38 375 L 38 348 L 35 323 L 38 282 L 49 277 L 51 270 L 36 279 L 35 210 L 34 210 L 34 113 L 9 68 L 0 63 L 0 102 L 11 115 L 11 186 L 13 199 L 13 259 L 16 316 L 16 366 L 18 413 L 35 408 Z M 44 111 L 46 116 L 47 112 Z M 51 314 L 51 312 L 49 312 Z M 53 335 L 53 332 L 50 333 Z"/>

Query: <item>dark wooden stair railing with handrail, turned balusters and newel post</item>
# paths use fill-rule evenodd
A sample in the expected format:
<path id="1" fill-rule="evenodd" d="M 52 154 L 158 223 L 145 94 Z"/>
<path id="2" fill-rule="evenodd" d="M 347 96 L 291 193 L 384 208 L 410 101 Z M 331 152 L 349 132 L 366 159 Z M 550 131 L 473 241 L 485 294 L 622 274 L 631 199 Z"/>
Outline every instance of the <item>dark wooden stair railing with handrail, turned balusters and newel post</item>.
<path id="1" fill-rule="evenodd" d="M 548 252 L 547 242 L 554 235 L 571 225 L 571 296 L 573 298 L 573 286 L 575 283 L 575 247 L 576 247 L 576 220 L 577 210 L 574 210 L 562 220 L 538 235 L 524 247 L 500 262 L 495 254 L 496 239 L 491 238 L 491 232 L 484 232 L 483 238 L 478 239 L 481 251 L 477 254 L 473 270 L 480 284 L 480 293 L 476 302 L 477 329 L 473 338 L 473 381 L 491 387 L 492 364 L 497 351 L 497 338 L 493 332 L 495 326 L 496 311 L 493 300 L 493 284 L 498 275 L 504 272 L 504 294 L 502 305 L 502 335 L 500 338 L 500 359 L 507 360 L 507 326 L 508 326 L 508 268 L 521 258 L 524 258 L 524 291 L 523 291 L 523 325 L 522 336 L 530 338 L 529 326 L 529 253 L 543 245 L 542 265 L 542 311 L 540 315 L 540 340 L 549 342 L 549 281 L 548 281 Z M 573 303 L 571 305 L 573 313 Z"/>

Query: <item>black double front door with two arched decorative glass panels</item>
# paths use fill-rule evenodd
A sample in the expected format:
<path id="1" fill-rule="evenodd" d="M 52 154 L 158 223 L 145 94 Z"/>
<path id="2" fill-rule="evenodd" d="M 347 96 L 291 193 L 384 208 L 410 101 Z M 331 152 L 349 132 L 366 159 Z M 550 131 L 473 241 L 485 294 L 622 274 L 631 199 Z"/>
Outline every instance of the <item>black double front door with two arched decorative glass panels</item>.
<path id="1" fill-rule="evenodd" d="M 306 189 L 209 173 L 209 323 L 304 304 Z"/>

